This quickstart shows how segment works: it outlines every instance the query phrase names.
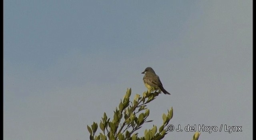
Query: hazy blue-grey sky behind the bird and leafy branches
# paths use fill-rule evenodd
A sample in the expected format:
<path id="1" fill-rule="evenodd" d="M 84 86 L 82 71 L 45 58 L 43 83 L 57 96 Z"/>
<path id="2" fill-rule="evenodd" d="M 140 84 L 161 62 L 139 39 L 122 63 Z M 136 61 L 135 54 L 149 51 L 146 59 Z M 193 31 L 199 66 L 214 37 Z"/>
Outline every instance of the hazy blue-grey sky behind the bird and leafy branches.
<path id="1" fill-rule="evenodd" d="M 139 136 L 173 107 L 175 127 L 242 126 L 200 140 L 252 139 L 252 0 L 4 0 L 4 140 L 88 140 L 148 66 L 171 95 Z"/>

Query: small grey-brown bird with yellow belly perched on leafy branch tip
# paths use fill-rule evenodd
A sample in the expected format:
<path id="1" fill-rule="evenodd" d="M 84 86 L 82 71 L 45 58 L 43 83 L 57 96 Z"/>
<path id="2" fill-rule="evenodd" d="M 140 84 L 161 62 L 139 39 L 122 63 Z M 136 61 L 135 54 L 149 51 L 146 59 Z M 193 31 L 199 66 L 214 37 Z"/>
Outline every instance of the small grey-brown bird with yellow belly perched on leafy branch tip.
<path id="1" fill-rule="evenodd" d="M 154 91 L 154 90 L 161 90 L 164 94 L 169 94 L 167 92 L 163 85 L 162 82 L 160 81 L 160 78 L 158 75 L 156 75 L 155 71 L 151 67 L 147 67 L 142 74 L 145 74 L 143 77 L 143 82 L 148 88 L 148 92 Z"/>

